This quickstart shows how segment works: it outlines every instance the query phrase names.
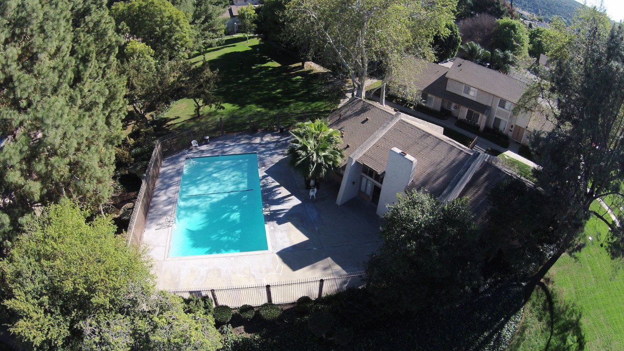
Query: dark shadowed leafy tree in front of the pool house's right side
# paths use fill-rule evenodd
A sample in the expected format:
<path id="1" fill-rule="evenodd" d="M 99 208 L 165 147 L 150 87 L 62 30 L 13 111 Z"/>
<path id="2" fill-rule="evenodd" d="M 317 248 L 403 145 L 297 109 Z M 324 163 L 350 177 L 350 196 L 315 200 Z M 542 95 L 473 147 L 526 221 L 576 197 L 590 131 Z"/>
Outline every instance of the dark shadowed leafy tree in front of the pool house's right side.
<path id="1" fill-rule="evenodd" d="M 483 259 L 467 199 L 442 204 L 420 192 L 397 196 L 383 217 L 383 244 L 366 267 L 368 289 L 401 313 L 469 298 L 480 285 Z"/>

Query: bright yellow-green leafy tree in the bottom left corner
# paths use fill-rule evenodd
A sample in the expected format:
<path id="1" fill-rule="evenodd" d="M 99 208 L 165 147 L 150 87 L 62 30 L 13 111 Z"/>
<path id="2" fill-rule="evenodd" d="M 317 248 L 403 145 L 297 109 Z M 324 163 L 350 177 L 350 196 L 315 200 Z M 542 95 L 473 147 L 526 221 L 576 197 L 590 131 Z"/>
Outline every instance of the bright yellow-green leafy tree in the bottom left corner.
<path id="1" fill-rule="evenodd" d="M 220 347 L 212 316 L 155 291 L 149 259 L 88 215 L 64 199 L 25 225 L 0 264 L 11 332 L 36 350 Z"/>

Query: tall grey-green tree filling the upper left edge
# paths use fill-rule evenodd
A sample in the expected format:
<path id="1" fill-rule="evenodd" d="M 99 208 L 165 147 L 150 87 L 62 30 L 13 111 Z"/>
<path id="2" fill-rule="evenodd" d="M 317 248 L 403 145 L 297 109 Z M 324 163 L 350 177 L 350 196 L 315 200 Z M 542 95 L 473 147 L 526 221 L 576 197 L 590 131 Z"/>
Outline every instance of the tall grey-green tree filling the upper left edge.
<path id="1" fill-rule="evenodd" d="M 103 1 L 0 2 L 0 232 L 61 196 L 112 194 L 122 38 Z"/>

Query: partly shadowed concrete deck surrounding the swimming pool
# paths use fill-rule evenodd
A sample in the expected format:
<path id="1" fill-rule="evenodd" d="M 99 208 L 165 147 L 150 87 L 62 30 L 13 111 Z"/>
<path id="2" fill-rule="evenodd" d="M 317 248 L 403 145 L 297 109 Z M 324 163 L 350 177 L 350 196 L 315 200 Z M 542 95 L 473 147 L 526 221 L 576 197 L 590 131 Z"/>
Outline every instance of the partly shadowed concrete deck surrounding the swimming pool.
<path id="1" fill-rule="evenodd" d="M 356 272 L 379 245 L 379 217 L 373 204 L 352 199 L 336 205 L 339 184 L 321 184 L 309 199 L 303 177 L 288 166 L 290 134 L 236 134 L 213 139 L 190 157 L 258 153 L 258 171 L 269 250 L 167 257 L 183 161 L 179 152 L 163 160 L 142 243 L 153 259 L 160 289 L 199 290 L 265 285 Z"/>

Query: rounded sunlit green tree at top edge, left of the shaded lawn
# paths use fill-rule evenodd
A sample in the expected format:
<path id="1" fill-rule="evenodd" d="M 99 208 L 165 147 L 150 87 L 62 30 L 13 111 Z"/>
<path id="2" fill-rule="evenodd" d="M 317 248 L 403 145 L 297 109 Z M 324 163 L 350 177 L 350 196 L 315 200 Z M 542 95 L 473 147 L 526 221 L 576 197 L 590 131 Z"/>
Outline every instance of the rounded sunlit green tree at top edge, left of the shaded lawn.
<path id="1" fill-rule="evenodd" d="M 154 49 L 159 61 L 184 57 L 193 46 L 193 32 L 187 15 L 167 0 L 115 2 L 110 13 L 124 22 L 130 38 L 140 38 Z"/>

